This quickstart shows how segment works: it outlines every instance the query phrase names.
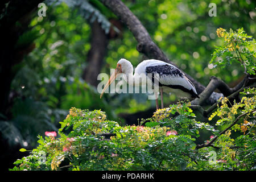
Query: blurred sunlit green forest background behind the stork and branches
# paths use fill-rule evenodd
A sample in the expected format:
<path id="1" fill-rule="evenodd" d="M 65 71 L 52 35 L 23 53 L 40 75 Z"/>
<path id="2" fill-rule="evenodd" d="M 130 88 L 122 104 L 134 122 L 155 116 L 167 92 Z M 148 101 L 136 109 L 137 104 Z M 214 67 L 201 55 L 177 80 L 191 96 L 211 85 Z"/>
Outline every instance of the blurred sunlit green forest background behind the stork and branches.
<path id="1" fill-rule="evenodd" d="M 221 44 L 216 35 L 219 27 L 243 27 L 255 38 L 255 1 L 123 2 L 167 57 L 201 84 L 207 85 L 210 76 L 230 86 L 243 78 L 240 65 L 223 70 L 213 68 L 209 60 L 214 46 Z M 155 109 L 155 101 L 147 100 L 146 94 L 104 94 L 100 100 L 98 73 L 109 75 L 121 58 L 134 67 L 147 59 L 137 51 L 131 32 L 110 10 L 96 0 L 44 3 L 46 16 L 39 17 L 35 11 L 15 44 L 16 50 L 27 45 L 34 48 L 12 65 L 9 99 L 0 115 L 2 147 L 6 148 L 1 158 L 17 144 L 35 147 L 37 136 L 57 130 L 72 106 L 101 109 L 122 125 L 137 124 L 137 118 L 151 117 Z M 209 3 L 216 3 L 216 17 L 208 14 Z M 165 95 L 164 105 L 176 100 L 172 94 Z"/>

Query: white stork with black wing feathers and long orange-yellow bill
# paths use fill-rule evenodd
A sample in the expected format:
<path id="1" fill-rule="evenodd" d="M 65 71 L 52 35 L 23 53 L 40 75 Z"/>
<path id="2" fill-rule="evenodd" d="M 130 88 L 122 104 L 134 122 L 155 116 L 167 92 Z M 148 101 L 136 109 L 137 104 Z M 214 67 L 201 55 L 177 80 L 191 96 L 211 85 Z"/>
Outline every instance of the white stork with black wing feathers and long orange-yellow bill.
<path id="1" fill-rule="evenodd" d="M 152 84 L 154 85 L 154 75 L 158 74 L 158 84 L 160 89 L 161 96 L 161 106 L 163 108 L 163 92 L 165 93 L 174 93 L 177 96 L 185 97 L 188 99 L 191 98 L 199 98 L 196 92 L 195 86 L 192 84 L 187 77 L 185 77 L 184 73 L 181 72 L 174 65 L 168 64 L 164 61 L 150 59 L 144 60 L 138 64 L 137 68 L 135 68 L 134 75 L 129 77 L 129 74 L 133 74 L 133 65 L 130 61 L 126 59 L 120 59 L 117 63 L 117 67 L 115 71 L 109 78 L 108 83 L 105 85 L 104 89 L 101 92 L 101 96 L 104 94 L 105 90 L 109 87 L 109 85 L 115 80 L 118 73 L 123 73 L 126 75 L 126 82 L 129 85 L 136 85 L 135 78 L 141 74 L 145 74 L 148 76 L 148 73 L 151 73 Z M 146 85 L 145 82 L 139 82 L 139 85 Z M 156 93 L 155 93 L 156 94 Z M 158 93 L 156 96 L 156 109 L 158 107 Z"/>

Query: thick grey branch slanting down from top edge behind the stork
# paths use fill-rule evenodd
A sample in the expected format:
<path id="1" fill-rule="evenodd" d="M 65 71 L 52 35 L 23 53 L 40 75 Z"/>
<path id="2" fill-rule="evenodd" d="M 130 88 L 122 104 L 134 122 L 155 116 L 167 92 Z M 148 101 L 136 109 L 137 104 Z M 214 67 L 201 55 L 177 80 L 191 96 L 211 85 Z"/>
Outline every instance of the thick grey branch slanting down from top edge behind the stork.
<path id="1" fill-rule="evenodd" d="M 158 59 L 162 61 L 166 61 L 172 65 L 175 65 L 168 59 L 166 55 L 161 51 L 161 49 L 156 46 L 156 44 L 152 41 L 150 35 L 148 34 L 146 28 L 142 25 L 139 19 L 125 6 L 125 4 L 120 0 L 100 0 L 107 6 L 110 10 L 113 11 L 115 15 L 117 15 L 121 21 L 126 24 L 129 30 L 133 33 L 135 39 L 138 42 L 137 49 L 139 52 L 144 53 L 150 59 Z M 175 65 L 176 66 L 176 65 Z M 193 82 L 196 87 L 197 93 L 201 93 L 204 91 L 205 86 L 200 84 L 200 82 L 196 81 L 193 77 L 185 73 L 185 75 Z M 212 94 L 212 99 L 210 98 L 210 104 L 216 102 L 216 97 L 219 96 L 218 93 Z M 220 96 L 219 96 L 220 97 Z M 218 98 L 217 98 L 218 99 Z"/>

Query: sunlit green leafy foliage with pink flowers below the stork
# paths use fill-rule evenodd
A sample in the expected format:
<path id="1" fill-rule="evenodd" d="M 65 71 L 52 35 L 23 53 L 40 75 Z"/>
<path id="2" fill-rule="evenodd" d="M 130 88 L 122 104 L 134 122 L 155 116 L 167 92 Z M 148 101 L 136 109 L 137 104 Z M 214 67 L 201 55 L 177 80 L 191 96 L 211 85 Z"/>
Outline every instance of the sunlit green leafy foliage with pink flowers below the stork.
<path id="1" fill-rule="evenodd" d="M 13 170 L 249 170 L 255 163 L 255 90 L 245 90 L 240 103 L 228 107 L 221 100 L 209 120 L 218 116 L 216 126 L 229 126 L 220 135 L 209 123 L 199 122 L 189 102 L 157 110 L 146 126 L 120 126 L 106 119 L 100 110 L 72 107 L 60 122 L 58 137 L 39 136 L 39 146 L 15 162 Z M 254 94 L 254 97 L 246 97 Z M 243 107 L 243 109 L 240 109 Z M 236 115 L 239 122 L 234 121 Z M 149 121 L 149 122 L 146 122 Z M 212 135 L 206 143 L 213 146 L 197 150 L 200 130 Z M 238 137 L 232 137 L 232 132 Z M 26 151 L 22 148 L 21 151 Z"/>

